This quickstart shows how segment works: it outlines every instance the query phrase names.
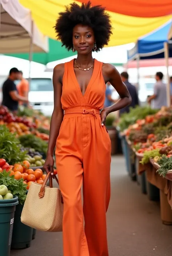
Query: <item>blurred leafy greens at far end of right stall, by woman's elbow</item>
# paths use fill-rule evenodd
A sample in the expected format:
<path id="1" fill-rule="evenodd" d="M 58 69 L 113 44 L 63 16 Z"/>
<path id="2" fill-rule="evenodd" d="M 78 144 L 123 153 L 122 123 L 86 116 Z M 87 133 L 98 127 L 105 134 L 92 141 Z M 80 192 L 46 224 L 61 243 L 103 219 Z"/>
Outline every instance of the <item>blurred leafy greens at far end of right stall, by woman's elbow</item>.
<path id="1" fill-rule="evenodd" d="M 133 125 L 138 119 L 144 119 L 147 115 L 152 115 L 157 113 L 158 110 L 151 109 L 150 106 L 135 108 L 130 107 L 129 113 L 124 113 L 121 115 L 119 128 L 121 131 L 128 128 L 129 125 Z"/>

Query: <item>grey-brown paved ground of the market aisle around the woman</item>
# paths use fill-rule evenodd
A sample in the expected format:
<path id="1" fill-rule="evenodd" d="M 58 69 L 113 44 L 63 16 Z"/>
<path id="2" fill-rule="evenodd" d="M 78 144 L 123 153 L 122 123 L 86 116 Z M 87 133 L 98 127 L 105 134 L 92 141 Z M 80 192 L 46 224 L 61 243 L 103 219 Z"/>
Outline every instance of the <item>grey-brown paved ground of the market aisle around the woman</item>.
<path id="1" fill-rule="evenodd" d="M 172 226 L 161 224 L 159 204 L 130 180 L 123 157 L 112 158 L 107 228 L 109 256 L 172 255 Z M 61 233 L 37 232 L 30 248 L 11 251 L 11 256 L 62 255 Z"/>

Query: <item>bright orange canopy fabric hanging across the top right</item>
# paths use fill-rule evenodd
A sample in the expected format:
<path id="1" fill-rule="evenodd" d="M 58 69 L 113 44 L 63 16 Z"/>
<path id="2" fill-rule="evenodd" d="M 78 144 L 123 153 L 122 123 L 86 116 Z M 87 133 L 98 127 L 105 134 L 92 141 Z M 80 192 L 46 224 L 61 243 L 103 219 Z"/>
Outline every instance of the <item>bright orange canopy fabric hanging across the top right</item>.
<path id="1" fill-rule="evenodd" d="M 79 0 L 87 3 L 88 0 Z M 107 11 L 135 17 L 160 17 L 172 14 L 172 0 L 91 0 L 92 5 L 103 5 Z"/>

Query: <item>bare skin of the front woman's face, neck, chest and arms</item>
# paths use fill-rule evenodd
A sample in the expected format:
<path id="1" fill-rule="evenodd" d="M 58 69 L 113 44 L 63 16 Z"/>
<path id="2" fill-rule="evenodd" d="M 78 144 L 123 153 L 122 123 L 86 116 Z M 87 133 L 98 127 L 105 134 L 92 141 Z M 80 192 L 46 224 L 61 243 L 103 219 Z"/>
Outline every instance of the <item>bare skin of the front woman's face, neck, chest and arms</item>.
<path id="1" fill-rule="evenodd" d="M 95 37 L 93 30 L 85 25 L 76 25 L 73 28 L 73 46 L 78 52 L 76 59 L 79 68 L 87 69 L 94 63 L 92 57 L 92 50 L 95 44 Z M 87 85 L 93 74 L 93 68 L 83 71 L 77 68 L 74 61 L 74 71 L 77 77 L 78 84 L 81 88 L 82 95 L 84 95 Z M 106 117 L 109 113 L 122 109 L 131 103 L 131 96 L 126 85 L 122 82 L 121 76 L 116 68 L 111 64 L 103 63 L 102 74 L 105 84 L 110 82 L 111 85 L 118 92 L 120 99 L 112 106 L 107 107 L 101 111 L 101 123 L 105 125 Z M 64 117 L 64 110 L 61 105 L 62 95 L 62 79 L 64 75 L 64 64 L 57 65 L 53 70 L 53 86 L 54 86 L 54 111 L 50 123 L 50 136 L 47 151 L 47 158 L 44 164 L 44 169 L 48 173 L 51 171 L 53 175 L 53 151 L 56 146 L 56 140 L 59 134 L 60 126 Z"/>

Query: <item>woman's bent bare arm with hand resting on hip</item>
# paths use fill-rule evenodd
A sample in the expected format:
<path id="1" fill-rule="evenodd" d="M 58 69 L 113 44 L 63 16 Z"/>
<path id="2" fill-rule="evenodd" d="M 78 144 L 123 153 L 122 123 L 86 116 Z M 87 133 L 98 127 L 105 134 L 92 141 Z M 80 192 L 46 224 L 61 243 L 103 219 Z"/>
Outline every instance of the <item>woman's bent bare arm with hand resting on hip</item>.
<path id="1" fill-rule="evenodd" d="M 118 92 L 120 99 L 110 107 L 106 107 L 101 112 L 102 124 L 105 123 L 106 117 L 109 113 L 122 109 L 130 105 L 131 96 L 128 92 L 126 85 L 122 82 L 121 76 L 118 70 L 111 64 L 103 64 L 102 67 L 103 77 L 105 79 L 105 83 L 110 82 L 111 85 Z"/>

